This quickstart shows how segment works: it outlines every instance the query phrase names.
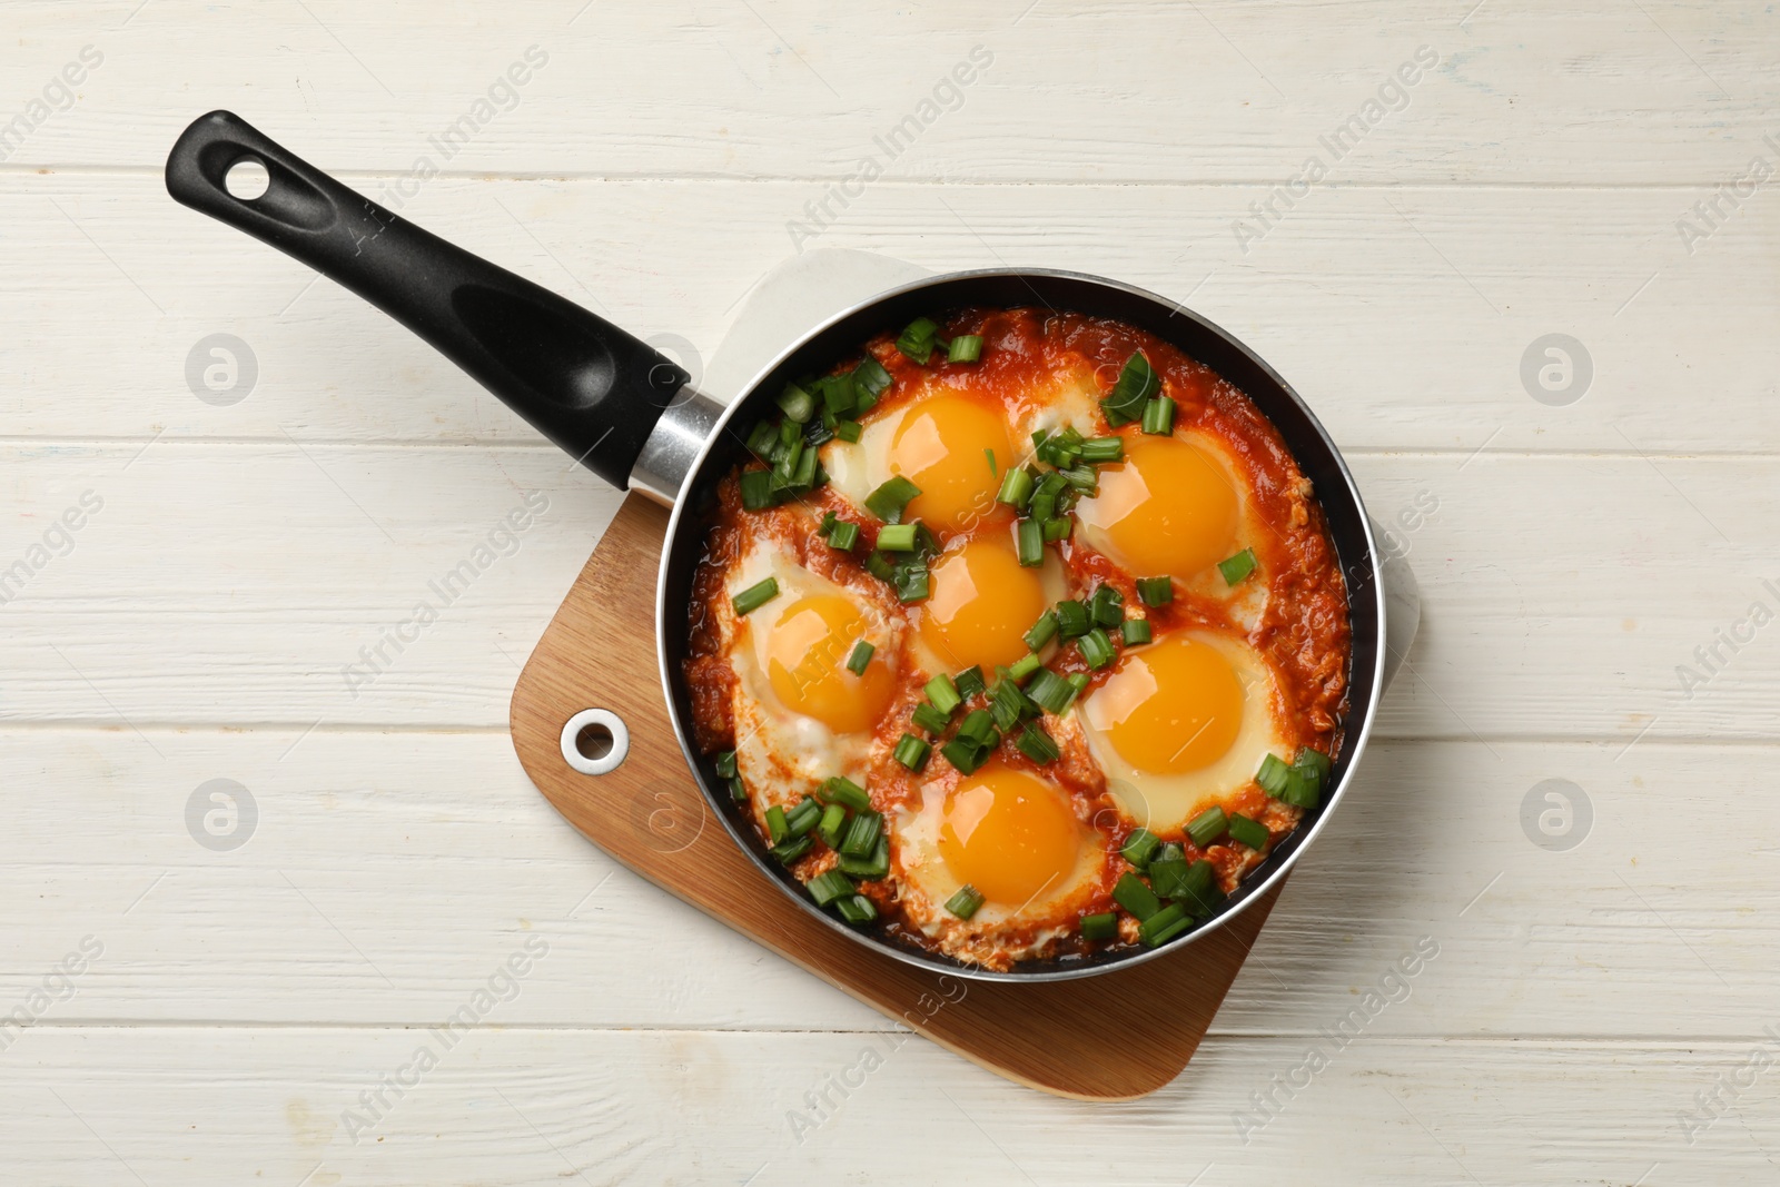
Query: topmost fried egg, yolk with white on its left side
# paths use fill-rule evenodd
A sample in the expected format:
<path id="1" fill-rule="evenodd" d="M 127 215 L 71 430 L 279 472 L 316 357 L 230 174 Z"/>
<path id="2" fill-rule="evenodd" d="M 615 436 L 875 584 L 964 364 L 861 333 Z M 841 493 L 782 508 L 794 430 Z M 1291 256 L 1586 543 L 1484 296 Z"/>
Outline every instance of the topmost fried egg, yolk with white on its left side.
<path id="1" fill-rule="evenodd" d="M 874 489 L 906 477 L 920 495 L 902 518 L 920 520 L 942 539 L 1013 518 L 995 502 L 995 489 L 1015 461 L 999 402 L 951 390 L 917 395 L 865 425 L 856 443 L 835 440 L 822 447 L 828 480 L 847 502 L 863 507 Z"/>

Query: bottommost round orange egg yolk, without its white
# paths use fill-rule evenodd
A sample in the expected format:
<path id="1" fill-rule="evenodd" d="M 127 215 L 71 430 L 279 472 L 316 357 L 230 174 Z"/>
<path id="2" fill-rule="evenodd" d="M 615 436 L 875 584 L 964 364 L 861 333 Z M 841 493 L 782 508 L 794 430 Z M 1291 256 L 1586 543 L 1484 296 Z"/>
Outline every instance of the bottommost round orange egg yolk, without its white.
<path id="1" fill-rule="evenodd" d="M 940 858 L 986 900 L 1018 909 L 1047 886 L 1068 883 L 1080 831 L 1061 790 L 990 763 L 945 797 Z"/>

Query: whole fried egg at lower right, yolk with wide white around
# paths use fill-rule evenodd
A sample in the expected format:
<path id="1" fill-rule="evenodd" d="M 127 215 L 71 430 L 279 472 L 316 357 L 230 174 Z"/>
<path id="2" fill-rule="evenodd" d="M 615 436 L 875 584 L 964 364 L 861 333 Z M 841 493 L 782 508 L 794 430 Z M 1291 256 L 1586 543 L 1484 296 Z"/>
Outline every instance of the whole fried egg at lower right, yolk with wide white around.
<path id="1" fill-rule="evenodd" d="M 1125 815 L 1178 835 L 1246 787 L 1269 753 L 1292 753 L 1280 705 L 1273 669 L 1248 642 L 1178 630 L 1127 651 L 1079 717 Z"/>

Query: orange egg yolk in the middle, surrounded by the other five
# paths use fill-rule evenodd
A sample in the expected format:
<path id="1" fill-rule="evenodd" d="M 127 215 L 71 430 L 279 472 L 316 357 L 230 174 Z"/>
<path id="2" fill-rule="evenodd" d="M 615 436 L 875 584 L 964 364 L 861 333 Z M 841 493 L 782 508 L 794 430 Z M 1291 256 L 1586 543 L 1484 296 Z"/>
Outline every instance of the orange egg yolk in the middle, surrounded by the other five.
<path id="1" fill-rule="evenodd" d="M 1027 651 L 1027 628 L 1045 612 L 1038 573 L 1022 568 L 1013 539 L 1002 532 L 947 548 L 929 571 L 922 639 L 958 669 L 1013 664 Z"/>

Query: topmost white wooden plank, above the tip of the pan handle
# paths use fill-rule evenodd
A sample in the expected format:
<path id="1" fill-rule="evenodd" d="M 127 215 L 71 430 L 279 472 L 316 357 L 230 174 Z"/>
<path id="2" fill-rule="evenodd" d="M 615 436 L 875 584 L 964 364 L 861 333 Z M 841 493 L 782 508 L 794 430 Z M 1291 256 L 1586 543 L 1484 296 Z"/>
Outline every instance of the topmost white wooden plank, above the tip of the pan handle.
<path id="1" fill-rule="evenodd" d="M 1775 130 L 1775 14 L 1702 0 L 1661 16 L 1575 0 L 1474 12 L 979 0 L 943 25 L 808 2 L 155 0 L 98 14 L 30 0 L 9 5 L 9 32 L 14 109 L 82 44 L 105 55 L 78 103 L 30 132 L 12 158 L 23 167 L 158 169 L 210 107 L 285 128 L 336 169 L 429 157 L 472 174 L 838 180 L 876 155 L 897 176 L 949 183 L 1283 182 L 1312 153 L 1342 182 L 1716 183 Z M 194 37 L 203 87 L 169 87 L 166 64 L 190 61 Z M 545 59 L 534 71 L 530 46 Z M 991 64 L 934 105 L 974 46 Z M 1365 112 L 1419 46 L 1440 64 L 1383 94 L 1397 110 Z M 530 77 L 490 101 L 514 64 Z M 913 142 L 878 148 L 910 116 Z M 1319 137 L 1351 116 L 1372 121 L 1337 160 Z M 436 142 L 465 117 L 447 157 Z"/>

